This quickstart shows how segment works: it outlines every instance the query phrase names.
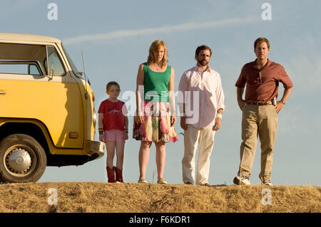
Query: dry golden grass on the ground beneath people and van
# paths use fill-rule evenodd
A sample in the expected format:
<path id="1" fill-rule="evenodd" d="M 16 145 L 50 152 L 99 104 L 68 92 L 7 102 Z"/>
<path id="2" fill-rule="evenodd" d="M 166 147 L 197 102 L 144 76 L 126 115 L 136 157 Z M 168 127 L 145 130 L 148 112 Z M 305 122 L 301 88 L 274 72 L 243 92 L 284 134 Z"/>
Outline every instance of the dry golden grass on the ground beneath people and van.
<path id="1" fill-rule="evenodd" d="M 49 206 L 55 188 L 58 205 Z M 321 212 L 320 186 L 272 186 L 272 205 L 262 187 L 96 182 L 0 185 L 0 212 L 196 213 Z"/>

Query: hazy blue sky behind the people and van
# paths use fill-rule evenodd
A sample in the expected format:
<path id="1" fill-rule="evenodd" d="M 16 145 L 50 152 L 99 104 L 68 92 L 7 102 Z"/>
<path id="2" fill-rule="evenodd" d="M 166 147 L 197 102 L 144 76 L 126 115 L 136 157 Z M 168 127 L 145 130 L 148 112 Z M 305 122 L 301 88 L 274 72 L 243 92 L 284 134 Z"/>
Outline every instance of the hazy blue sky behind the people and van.
<path id="1" fill-rule="evenodd" d="M 56 14 L 51 14 L 51 3 Z M 264 36 L 270 41 L 268 58 L 285 67 L 294 87 L 278 115 L 272 183 L 275 185 L 321 185 L 321 1 L 0 1 L 0 32 L 29 33 L 61 39 L 79 70 L 91 81 L 98 110 L 106 95 L 106 83 L 121 85 L 120 100 L 136 89 L 138 66 L 146 62 L 148 48 L 157 39 L 165 41 L 168 64 L 175 70 L 175 91 L 182 73 L 195 65 L 195 48 L 207 45 L 213 51 L 210 67 L 220 73 L 225 93 L 222 128 L 215 134 L 210 157 L 209 183 L 233 184 L 240 163 L 241 112 L 235 82 L 245 63 L 255 60 L 253 43 Z M 57 17 L 54 18 L 53 15 Z M 282 97 L 283 87 L 279 94 Z M 128 107 L 130 109 L 130 107 Z M 129 117 L 131 137 L 133 117 Z M 98 126 L 96 126 L 98 127 Z M 183 184 L 183 132 L 178 124 L 178 142 L 166 144 L 164 178 Z M 98 134 L 95 139 L 98 141 Z M 123 179 L 137 182 L 140 142 L 125 145 Z M 106 152 L 106 148 L 105 148 Z M 155 145 L 146 170 L 146 180 L 156 182 Z M 197 157 L 197 154 L 196 154 Z M 114 160 L 116 164 L 116 160 Z M 250 181 L 259 184 L 260 142 Z M 47 167 L 40 182 L 106 182 L 106 155 L 75 167 Z"/>

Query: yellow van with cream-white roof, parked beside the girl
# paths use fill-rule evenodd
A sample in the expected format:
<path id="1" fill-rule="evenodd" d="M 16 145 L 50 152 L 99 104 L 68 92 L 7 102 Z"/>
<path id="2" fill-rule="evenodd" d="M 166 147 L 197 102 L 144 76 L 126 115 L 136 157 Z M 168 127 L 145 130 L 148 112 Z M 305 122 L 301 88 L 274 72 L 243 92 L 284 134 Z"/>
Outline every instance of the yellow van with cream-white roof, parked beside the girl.
<path id="1" fill-rule="evenodd" d="M 1 182 L 35 182 L 46 166 L 103 156 L 82 74 L 57 38 L 0 33 Z"/>

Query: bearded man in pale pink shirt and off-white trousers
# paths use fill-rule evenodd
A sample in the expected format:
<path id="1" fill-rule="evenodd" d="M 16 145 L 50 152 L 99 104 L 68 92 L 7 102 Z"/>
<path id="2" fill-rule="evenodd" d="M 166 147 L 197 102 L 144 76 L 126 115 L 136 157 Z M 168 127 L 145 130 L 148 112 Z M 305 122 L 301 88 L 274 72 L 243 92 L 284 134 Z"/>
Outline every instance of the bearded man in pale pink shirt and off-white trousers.
<path id="1" fill-rule="evenodd" d="M 211 56 L 208 46 L 198 46 L 195 51 L 197 64 L 183 73 L 178 87 L 180 127 L 184 130 L 184 184 L 194 184 L 195 152 L 199 144 L 196 184 L 209 186 L 214 135 L 222 125 L 224 93 L 220 74 L 208 65 Z"/>

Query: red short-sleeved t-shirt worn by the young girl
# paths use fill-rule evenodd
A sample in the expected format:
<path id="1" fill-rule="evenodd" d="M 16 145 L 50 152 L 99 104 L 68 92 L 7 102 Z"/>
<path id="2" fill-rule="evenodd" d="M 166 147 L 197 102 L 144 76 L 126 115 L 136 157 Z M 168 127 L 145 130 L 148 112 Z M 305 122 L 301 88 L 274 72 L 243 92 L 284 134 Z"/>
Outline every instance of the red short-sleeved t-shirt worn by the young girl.
<path id="1" fill-rule="evenodd" d="M 125 102 L 118 100 L 111 102 L 104 100 L 99 106 L 98 113 L 103 113 L 103 130 L 121 130 L 125 125 L 125 117 L 127 116 L 127 107 Z"/>

